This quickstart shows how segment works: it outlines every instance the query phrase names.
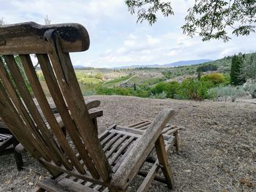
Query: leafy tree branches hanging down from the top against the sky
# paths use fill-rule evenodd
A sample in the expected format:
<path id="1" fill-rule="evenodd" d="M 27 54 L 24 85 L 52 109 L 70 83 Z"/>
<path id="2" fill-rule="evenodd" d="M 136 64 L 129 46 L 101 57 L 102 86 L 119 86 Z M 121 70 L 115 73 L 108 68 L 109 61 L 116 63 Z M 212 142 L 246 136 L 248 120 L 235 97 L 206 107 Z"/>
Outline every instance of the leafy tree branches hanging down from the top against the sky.
<path id="1" fill-rule="evenodd" d="M 165 17 L 174 15 L 170 1 L 160 0 L 125 0 L 129 12 L 138 15 L 137 22 L 147 20 L 150 25 L 157 22 L 157 12 Z M 255 32 L 255 0 L 200 0 L 195 1 L 181 26 L 184 34 L 194 37 L 199 34 L 203 41 L 210 39 L 230 40 L 227 29 L 232 34 L 249 35 Z"/>

